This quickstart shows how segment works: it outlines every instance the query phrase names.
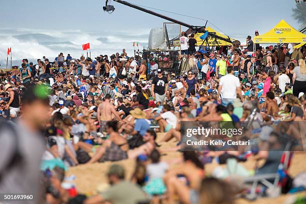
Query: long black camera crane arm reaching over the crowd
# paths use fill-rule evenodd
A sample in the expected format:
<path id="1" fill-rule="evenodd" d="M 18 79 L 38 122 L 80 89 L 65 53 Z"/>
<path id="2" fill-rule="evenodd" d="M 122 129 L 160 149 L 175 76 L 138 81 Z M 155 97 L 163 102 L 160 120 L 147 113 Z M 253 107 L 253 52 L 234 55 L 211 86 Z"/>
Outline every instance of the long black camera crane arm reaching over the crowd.
<path id="1" fill-rule="evenodd" d="M 206 20 L 206 23 L 204 26 L 194 26 L 194 25 L 189 25 L 187 23 L 184 23 L 184 22 L 181 22 L 179 20 L 176 20 L 176 19 L 173 19 L 171 17 L 168 17 L 168 16 L 165 16 L 165 15 L 162 15 L 162 14 L 159 14 L 159 13 L 156 13 L 154 11 L 151 11 L 151 10 L 148 10 L 148 9 L 145 9 L 145 8 L 142 8 L 140 6 L 137 6 L 137 5 L 134 5 L 132 3 L 129 3 L 127 1 L 124 1 L 124 0 L 114 0 L 118 3 L 121 3 L 123 5 L 127 5 L 129 7 L 132 7 L 132 8 L 135 8 L 137 10 L 141 10 L 143 12 L 146 12 L 146 13 L 149 13 L 151 15 L 155 15 L 157 17 L 160 17 L 160 18 L 163 18 L 163 19 L 166 19 L 166 20 L 169 20 L 171 22 L 174 22 L 174 23 L 177 23 L 177 24 L 180 24 L 182 26 L 185 26 L 185 27 L 188 27 L 192 30 L 192 32 L 194 33 L 197 33 L 197 32 L 204 32 L 205 31 L 205 27 L 206 27 L 206 24 L 207 24 L 207 20 Z M 106 0 L 105 1 L 105 6 L 103 6 L 103 10 L 104 11 L 107 11 L 108 13 L 112 13 L 114 11 L 114 6 L 113 5 L 109 5 L 108 3 L 110 2 L 110 0 Z M 219 40 L 223 40 L 223 41 L 226 41 L 226 42 L 229 42 L 229 43 L 233 43 L 233 41 L 230 40 L 230 38 L 225 38 L 225 37 L 221 37 L 221 36 L 218 36 L 217 34 L 215 34 L 215 32 L 208 32 L 208 36 L 210 36 L 211 38 L 214 38 L 214 39 L 219 39 Z"/>

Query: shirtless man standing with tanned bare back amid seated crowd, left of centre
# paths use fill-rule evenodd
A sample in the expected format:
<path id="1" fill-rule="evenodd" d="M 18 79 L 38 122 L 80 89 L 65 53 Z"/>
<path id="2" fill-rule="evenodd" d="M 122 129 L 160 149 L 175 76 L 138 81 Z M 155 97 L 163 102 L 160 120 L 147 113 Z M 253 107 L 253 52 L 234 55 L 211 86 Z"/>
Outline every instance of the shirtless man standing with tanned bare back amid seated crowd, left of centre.
<path id="1" fill-rule="evenodd" d="M 113 104 L 110 103 L 110 95 L 104 96 L 104 101 L 101 102 L 96 111 L 96 118 L 100 122 L 100 132 L 105 132 L 105 125 L 107 121 L 112 120 L 112 114 L 121 121 L 119 114 L 116 112 Z"/>

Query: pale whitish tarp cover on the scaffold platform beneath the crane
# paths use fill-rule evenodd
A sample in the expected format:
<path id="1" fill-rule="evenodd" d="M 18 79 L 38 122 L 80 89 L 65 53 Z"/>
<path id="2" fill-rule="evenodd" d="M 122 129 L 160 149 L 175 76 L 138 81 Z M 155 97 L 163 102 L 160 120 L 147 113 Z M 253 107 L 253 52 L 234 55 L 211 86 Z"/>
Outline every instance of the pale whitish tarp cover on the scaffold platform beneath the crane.
<path id="1" fill-rule="evenodd" d="M 161 27 L 155 27 L 150 30 L 148 48 L 149 49 L 167 48 L 164 31 Z"/>

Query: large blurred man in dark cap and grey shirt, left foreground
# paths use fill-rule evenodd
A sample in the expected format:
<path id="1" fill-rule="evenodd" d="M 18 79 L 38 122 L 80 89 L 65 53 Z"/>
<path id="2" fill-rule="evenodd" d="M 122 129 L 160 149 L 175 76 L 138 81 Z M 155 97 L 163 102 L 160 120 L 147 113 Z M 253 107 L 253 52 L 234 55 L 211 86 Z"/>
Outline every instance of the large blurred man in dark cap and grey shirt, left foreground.
<path id="1" fill-rule="evenodd" d="M 22 203 L 43 203 L 40 162 L 44 151 L 42 124 L 49 119 L 48 90 L 31 86 L 22 97 L 22 117 L 17 124 L 2 123 L 0 128 L 0 191 L 32 195 Z M 20 203 L 20 202 L 19 202 Z"/>

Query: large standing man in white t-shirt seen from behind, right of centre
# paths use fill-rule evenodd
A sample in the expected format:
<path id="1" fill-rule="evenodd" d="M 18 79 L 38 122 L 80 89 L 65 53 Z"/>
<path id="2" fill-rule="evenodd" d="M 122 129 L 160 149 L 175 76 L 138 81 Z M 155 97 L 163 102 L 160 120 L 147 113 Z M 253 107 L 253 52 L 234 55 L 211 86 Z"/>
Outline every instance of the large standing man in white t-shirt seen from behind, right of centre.
<path id="1" fill-rule="evenodd" d="M 227 74 L 220 78 L 218 87 L 218 98 L 222 93 L 222 105 L 227 106 L 237 97 L 237 93 L 243 101 L 239 78 L 233 75 L 231 66 L 227 67 Z"/>

